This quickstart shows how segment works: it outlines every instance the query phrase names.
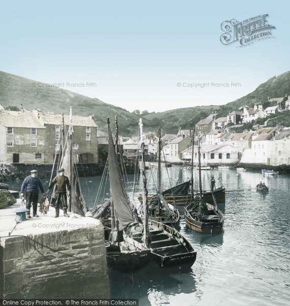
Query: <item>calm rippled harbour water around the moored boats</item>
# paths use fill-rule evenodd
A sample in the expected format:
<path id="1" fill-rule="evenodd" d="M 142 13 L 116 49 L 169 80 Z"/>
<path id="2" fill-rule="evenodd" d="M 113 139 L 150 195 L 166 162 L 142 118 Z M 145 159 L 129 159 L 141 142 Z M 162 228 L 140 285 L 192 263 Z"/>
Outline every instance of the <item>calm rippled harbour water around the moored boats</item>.
<path id="1" fill-rule="evenodd" d="M 188 180 L 188 169 L 164 168 L 163 189 Z M 238 174 L 237 174 L 238 173 Z M 290 176 L 263 176 L 259 171 L 235 169 L 202 171 L 203 189 L 210 175 L 222 183 L 226 202 L 224 230 L 200 234 L 189 230 L 184 220 L 181 233 L 197 251 L 192 270 L 181 273 L 159 269 L 153 263 L 130 274 L 110 272 L 112 298 L 139 298 L 139 305 L 289 305 L 290 300 Z M 148 189 L 154 191 L 149 177 Z M 48 185 L 47 180 L 42 182 Z M 269 192 L 254 188 L 263 181 Z M 93 206 L 100 177 L 82 179 L 82 190 Z M 11 189 L 21 182 L 10 182 Z M 126 180 L 132 196 L 133 176 Z M 141 191 L 137 182 L 135 201 Z M 101 197 L 109 196 L 109 188 Z M 97 294 L 96 294 L 97 297 Z"/>

